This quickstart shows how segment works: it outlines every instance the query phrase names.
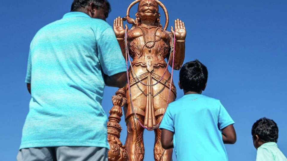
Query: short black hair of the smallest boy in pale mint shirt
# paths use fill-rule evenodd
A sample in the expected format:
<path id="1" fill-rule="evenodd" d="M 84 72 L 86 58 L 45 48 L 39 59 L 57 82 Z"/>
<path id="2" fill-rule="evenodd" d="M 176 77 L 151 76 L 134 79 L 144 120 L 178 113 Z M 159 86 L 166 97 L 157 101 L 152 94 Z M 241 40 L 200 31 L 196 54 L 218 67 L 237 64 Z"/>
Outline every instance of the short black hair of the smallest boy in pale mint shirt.
<path id="1" fill-rule="evenodd" d="M 253 124 L 251 134 L 253 137 L 255 137 L 255 135 L 258 135 L 259 140 L 265 143 L 277 143 L 278 127 L 273 120 L 263 117 Z"/>

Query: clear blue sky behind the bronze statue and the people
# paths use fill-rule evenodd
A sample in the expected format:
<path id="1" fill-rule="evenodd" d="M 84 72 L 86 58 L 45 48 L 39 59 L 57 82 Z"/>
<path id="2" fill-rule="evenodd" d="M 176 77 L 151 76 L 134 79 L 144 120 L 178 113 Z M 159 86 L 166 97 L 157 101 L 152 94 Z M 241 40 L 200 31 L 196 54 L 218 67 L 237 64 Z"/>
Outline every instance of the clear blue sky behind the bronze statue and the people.
<path id="1" fill-rule="evenodd" d="M 112 25 L 125 16 L 132 0 L 110 0 Z M 199 59 L 209 71 L 203 93 L 221 100 L 235 120 L 237 142 L 226 145 L 230 161 L 255 160 L 251 126 L 260 117 L 279 126 L 278 145 L 287 154 L 287 1 L 162 0 L 171 22 L 180 18 L 187 29 L 185 62 Z M 0 5 L 0 160 L 15 160 L 30 95 L 25 74 L 29 44 L 46 24 L 69 12 L 72 0 L 14 0 Z M 135 14 L 135 9 L 130 15 Z M 161 10 L 161 22 L 164 13 Z M 173 23 L 170 23 L 170 26 Z M 177 84 L 178 71 L 174 81 Z M 178 88 L 178 86 L 177 86 Z M 107 87 L 103 108 L 108 113 L 116 88 Z M 178 98 L 183 92 L 178 88 Z M 179 107 L 180 108 L 180 107 Z M 122 117 L 123 119 L 123 117 Z M 188 126 L 189 123 L 183 123 Z M 121 121 L 121 141 L 126 126 Z M 196 131 L 194 131 L 196 132 Z M 187 146 L 193 146 L 188 141 Z M 144 132 L 145 161 L 153 160 L 154 133 Z M 192 151 L 190 152 L 192 153 Z M 174 159 L 176 160 L 176 159 Z"/>

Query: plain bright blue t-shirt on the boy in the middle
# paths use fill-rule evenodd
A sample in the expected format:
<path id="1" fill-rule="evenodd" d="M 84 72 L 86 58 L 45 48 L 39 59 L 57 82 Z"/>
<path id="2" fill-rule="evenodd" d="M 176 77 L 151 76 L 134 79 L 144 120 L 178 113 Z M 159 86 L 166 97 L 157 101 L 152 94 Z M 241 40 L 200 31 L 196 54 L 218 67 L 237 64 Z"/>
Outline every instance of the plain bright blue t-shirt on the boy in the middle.
<path id="1" fill-rule="evenodd" d="M 189 94 L 169 104 L 159 128 L 174 133 L 178 161 L 227 161 L 221 130 L 231 124 L 219 100 Z"/>

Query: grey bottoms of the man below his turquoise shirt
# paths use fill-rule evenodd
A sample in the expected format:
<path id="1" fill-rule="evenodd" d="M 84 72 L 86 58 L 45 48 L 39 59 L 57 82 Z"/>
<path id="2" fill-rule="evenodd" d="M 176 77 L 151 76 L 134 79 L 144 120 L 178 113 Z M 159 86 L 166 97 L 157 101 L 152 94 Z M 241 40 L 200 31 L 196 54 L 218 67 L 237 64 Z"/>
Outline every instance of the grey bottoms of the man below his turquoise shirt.
<path id="1" fill-rule="evenodd" d="M 21 149 L 17 161 L 108 161 L 108 149 L 99 147 L 44 147 Z"/>

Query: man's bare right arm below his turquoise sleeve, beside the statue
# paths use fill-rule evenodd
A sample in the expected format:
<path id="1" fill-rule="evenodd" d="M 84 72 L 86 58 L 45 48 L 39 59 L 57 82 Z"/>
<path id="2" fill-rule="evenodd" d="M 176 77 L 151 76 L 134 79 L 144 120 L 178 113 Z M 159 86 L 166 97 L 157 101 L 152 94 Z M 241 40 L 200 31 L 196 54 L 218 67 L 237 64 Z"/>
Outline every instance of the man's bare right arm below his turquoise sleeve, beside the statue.
<path id="1" fill-rule="evenodd" d="M 104 75 L 104 81 L 107 86 L 122 88 L 126 85 L 126 72 L 117 73 L 112 76 Z"/>

